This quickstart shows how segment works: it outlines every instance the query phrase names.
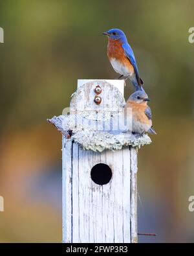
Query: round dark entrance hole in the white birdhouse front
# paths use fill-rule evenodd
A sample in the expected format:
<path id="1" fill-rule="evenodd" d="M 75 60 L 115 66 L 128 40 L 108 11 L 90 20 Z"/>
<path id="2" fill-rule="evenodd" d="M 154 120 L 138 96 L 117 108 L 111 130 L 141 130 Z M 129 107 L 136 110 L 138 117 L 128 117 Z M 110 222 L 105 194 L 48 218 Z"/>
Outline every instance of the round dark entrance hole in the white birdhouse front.
<path id="1" fill-rule="evenodd" d="M 96 184 L 105 185 L 109 183 L 112 178 L 112 170 L 109 165 L 105 165 L 105 163 L 98 163 L 92 167 L 91 178 Z"/>

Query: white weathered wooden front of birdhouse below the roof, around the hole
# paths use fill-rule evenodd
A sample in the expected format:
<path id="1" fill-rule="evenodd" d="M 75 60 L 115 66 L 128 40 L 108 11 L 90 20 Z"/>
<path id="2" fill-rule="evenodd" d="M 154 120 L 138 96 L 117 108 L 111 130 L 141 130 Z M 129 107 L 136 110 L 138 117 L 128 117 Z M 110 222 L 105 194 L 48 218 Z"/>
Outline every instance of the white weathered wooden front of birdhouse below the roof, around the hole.
<path id="1" fill-rule="evenodd" d="M 91 179 L 97 163 L 111 167 L 105 185 Z M 102 153 L 63 139 L 63 242 L 137 242 L 136 150 Z"/>

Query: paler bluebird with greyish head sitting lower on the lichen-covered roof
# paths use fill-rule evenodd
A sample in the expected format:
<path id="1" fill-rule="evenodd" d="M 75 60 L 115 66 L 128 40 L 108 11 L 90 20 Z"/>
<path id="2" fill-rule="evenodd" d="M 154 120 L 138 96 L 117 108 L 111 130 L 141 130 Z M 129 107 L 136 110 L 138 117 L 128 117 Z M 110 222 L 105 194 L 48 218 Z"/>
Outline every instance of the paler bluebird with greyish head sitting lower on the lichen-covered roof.
<path id="1" fill-rule="evenodd" d="M 125 110 L 131 108 L 132 110 L 132 132 L 134 134 L 144 134 L 149 132 L 156 134 L 152 126 L 151 109 L 147 106 L 149 101 L 145 91 L 135 91 L 125 104 Z"/>

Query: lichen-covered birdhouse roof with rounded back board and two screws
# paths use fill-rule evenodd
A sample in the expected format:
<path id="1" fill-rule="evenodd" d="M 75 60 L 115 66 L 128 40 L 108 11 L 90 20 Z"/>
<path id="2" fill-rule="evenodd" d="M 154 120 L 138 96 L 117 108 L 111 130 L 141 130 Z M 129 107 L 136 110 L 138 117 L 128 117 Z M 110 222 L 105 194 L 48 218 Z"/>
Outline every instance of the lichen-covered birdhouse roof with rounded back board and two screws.
<path id="1" fill-rule="evenodd" d="M 69 115 L 63 111 L 63 115 L 52 117 L 48 122 L 85 150 L 102 152 L 150 144 L 146 134 L 137 137 L 115 128 L 124 111 L 123 89 L 124 80 L 79 80 L 67 110 Z"/>

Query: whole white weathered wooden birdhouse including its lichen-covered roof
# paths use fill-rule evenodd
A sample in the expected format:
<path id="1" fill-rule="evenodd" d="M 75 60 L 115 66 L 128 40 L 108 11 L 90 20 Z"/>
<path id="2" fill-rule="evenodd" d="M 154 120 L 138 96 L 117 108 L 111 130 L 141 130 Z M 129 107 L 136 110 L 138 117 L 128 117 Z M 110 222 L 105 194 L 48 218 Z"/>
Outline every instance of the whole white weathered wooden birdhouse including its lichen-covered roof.
<path id="1" fill-rule="evenodd" d="M 105 130 L 124 104 L 124 80 L 78 80 L 70 115 L 48 120 L 63 134 L 63 242 L 138 240 L 136 149 L 151 140 Z"/>

